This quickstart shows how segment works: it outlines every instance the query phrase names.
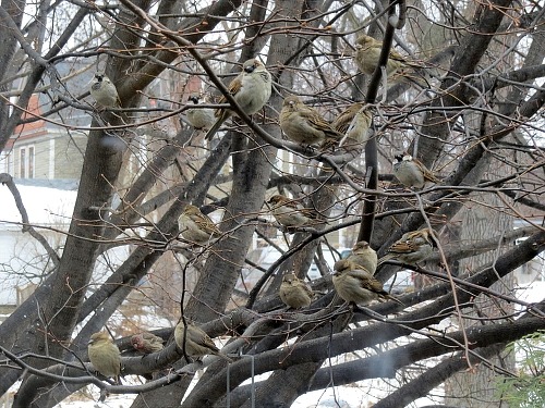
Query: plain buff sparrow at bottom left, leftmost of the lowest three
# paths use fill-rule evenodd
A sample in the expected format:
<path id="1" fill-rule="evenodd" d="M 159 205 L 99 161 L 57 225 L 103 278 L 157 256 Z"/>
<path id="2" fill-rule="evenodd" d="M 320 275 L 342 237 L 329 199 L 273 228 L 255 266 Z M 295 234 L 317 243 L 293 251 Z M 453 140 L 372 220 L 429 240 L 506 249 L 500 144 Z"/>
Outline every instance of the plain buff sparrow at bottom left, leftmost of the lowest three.
<path id="1" fill-rule="evenodd" d="M 95 370 L 106 378 L 113 378 L 117 384 L 121 384 L 119 380 L 121 354 L 108 333 L 94 333 L 87 344 L 87 351 Z"/>

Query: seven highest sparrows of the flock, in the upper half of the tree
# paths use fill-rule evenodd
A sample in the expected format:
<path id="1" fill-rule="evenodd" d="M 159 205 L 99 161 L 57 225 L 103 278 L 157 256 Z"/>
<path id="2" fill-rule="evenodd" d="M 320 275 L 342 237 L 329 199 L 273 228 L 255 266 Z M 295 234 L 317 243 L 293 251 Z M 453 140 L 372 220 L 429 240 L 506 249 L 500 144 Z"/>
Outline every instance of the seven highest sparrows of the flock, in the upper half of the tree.
<path id="1" fill-rule="evenodd" d="M 355 41 L 354 62 L 359 70 L 367 75 L 373 74 L 378 65 L 383 42 L 373 37 L 361 35 Z M 390 49 L 386 65 L 387 76 L 402 72 L 408 67 L 417 67 L 395 50 Z M 250 59 L 242 65 L 242 72 L 229 84 L 228 90 L 239 108 L 252 115 L 258 112 L 271 95 L 271 75 L 257 59 Z M 116 86 L 104 74 L 95 74 L 90 86 L 90 95 L 105 108 L 120 107 Z M 189 101 L 193 106 L 201 102 L 198 94 L 192 94 Z M 219 103 L 226 103 L 225 96 Z M 187 122 L 197 129 L 208 129 L 205 138 L 210 139 L 230 116 L 232 109 L 221 108 L 214 112 L 210 108 L 190 108 Z M 318 111 L 307 107 L 296 96 L 288 96 L 283 100 L 279 123 L 288 139 L 303 146 L 325 148 L 341 146 L 348 150 L 359 149 L 367 140 L 372 124 L 372 114 L 362 103 L 353 103 L 344 110 L 334 123 L 326 121 Z M 411 156 L 396 156 L 393 175 L 407 187 L 422 188 L 425 182 L 437 183 L 438 180 L 416 159 Z"/>

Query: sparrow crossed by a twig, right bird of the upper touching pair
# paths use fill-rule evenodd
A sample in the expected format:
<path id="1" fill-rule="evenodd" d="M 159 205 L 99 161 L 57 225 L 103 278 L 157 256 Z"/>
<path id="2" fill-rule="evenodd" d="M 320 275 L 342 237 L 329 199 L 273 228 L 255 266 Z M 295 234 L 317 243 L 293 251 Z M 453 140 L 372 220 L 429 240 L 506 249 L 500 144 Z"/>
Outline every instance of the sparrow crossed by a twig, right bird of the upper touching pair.
<path id="1" fill-rule="evenodd" d="M 353 103 L 335 120 L 332 127 L 343 135 L 340 147 L 360 148 L 367 141 L 373 115 L 363 107 L 363 103 Z"/>

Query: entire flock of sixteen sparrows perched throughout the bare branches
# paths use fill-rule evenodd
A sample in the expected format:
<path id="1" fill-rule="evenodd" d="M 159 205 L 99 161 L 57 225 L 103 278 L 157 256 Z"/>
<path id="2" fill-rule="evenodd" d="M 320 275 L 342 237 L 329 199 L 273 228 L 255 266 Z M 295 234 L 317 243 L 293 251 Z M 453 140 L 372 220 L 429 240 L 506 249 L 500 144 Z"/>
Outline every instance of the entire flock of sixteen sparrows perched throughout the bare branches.
<path id="1" fill-rule="evenodd" d="M 367 75 L 373 74 L 378 64 L 382 42 L 364 35 L 358 38 L 355 49 L 354 61 L 360 71 Z M 388 77 L 408 66 L 414 65 L 396 51 L 390 50 L 386 65 Z M 270 98 L 271 75 L 261 61 L 251 59 L 244 62 L 242 72 L 229 84 L 228 89 L 239 108 L 247 115 L 252 115 L 258 112 Z M 104 108 L 121 106 L 116 86 L 105 74 L 95 75 L 90 95 Z M 202 98 L 198 94 L 192 94 L 189 100 L 194 106 L 198 106 Z M 226 103 L 227 99 L 222 97 L 219 102 Z M 233 114 L 237 113 L 228 108 L 216 111 L 209 108 L 190 108 L 186 111 L 186 119 L 193 127 L 207 129 L 205 138 L 210 139 Z M 296 96 L 284 98 L 279 115 L 280 127 L 290 140 L 318 148 L 331 145 L 343 146 L 347 149 L 361 148 L 367 140 L 372 120 L 370 109 L 363 103 L 353 103 L 332 123 L 329 123 L 318 111 L 307 107 Z M 404 186 L 423 188 L 426 182 L 439 182 L 429 170 L 411 156 L 399 154 L 396 156 L 396 160 L 393 175 Z M 314 210 L 303 208 L 296 200 L 286 196 L 275 195 L 267 201 L 267 205 L 276 221 L 288 228 L 312 225 L 316 222 Z M 178 222 L 182 237 L 193 244 L 204 245 L 222 235 L 217 225 L 192 205 L 184 207 Z M 376 299 L 399 302 L 385 292 L 383 284 L 374 277 L 378 265 L 390 260 L 416 264 L 433 252 L 434 246 L 433 233 L 428 228 L 404 234 L 401 239 L 391 245 L 382 259 L 378 259 L 376 251 L 370 247 L 368 243 L 359 242 L 347 259 L 341 259 L 334 265 L 335 290 L 349 304 L 367 305 Z M 313 290 L 294 273 L 287 273 L 282 276 L 279 297 L 290 308 L 305 308 L 312 304 Z M 230 360 L 219 351 L 203 330 L 190 321 L 184 324 L 183 320 L 180 320 L 177 324 L 174 342 L 179 350 L 189 357 L 215 355 Z M 131 344 L 141 354 L 157 353 L 164 348 L 162 338 L 150 333 L 132 336 Z M 88 357 L 96 371 L 119 383 L 121 354 L 107 333 L 99 332 L 90 336 Z"/>

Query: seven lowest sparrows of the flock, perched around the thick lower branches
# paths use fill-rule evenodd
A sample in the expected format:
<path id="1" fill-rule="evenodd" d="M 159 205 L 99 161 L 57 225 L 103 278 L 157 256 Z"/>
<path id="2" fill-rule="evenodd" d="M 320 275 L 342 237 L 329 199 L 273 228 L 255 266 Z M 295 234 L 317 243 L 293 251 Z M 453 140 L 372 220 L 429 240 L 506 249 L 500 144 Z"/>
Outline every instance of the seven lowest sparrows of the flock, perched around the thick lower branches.
<path id="1" fill-rule="evenodd" d="M 429 228 L 413 231 L 403 234 L 390 246 L 387 254 L 378 259 L 368 243 L 361 240 L 353 246 L 352 252 L 346 259 L 335 263 L 332 274 L 335 290 L 341 299 L 353 305 L 367 305 L 373 300 L 393 300 L 401 304 L 374 277 L 378 265 L 390 260 L 416 264 L 432 255 L 435 246 L 435 238 Z M 293 309 L 311 306 L 314 297 L 308 284 L 291 272 L 282 276 L 278 295 L 284 305 Z M 231 361 L 211 338 L 191 321 L 186 321 L 186 324 L 183 320 L 179 321 L 174 327 L 174 342 L 179 351 L 190 358 L 214 355 Z M 157 353 L 164 348 L 162 338 L 152 333 L 133 335 L 131 344 L 143 355 Z M 98 332 L 90 336 L 88 357 L 96 371 L 120 384 L 121 353 L 108 333 Z"/>

